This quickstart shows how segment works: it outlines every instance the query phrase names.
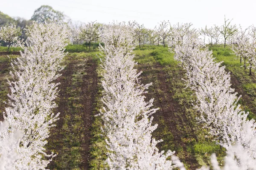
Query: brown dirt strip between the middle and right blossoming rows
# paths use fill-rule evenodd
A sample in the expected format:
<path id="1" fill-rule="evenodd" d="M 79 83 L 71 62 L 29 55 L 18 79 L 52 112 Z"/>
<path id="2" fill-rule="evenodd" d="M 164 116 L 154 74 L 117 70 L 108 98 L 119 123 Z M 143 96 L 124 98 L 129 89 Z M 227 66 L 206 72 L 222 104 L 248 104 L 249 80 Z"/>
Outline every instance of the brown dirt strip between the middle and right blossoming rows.
<path id="1" fill-rule="evenodd" d="M 158 144 L 159 150 L 175 150 L 175 155 L 182 155 L 181 161 L 189 165 L 189 169 L 193 170 L 198 167 L 198 163 L 194 156 L 186 151 L 186 137 L 195 137 L 194 130 L 190 126 L 188 115 L 175 99 L 173 93 L 173 84 L 170 79 L 181 79 L 183 72 L 180 71 L 170 75 L 165 70 L 165 66 L 155 63 L 154 65 L 138 65 L 138 71 L 143 71 L 141 81 L 143 84 L 152 82 L 153 85 L 148 89 L 148 94 L 145 94 L 146 101 L 154 98 L 154 108 L 160 108 L 154 116 L 153 125 L 158 124 L 157 129 L 153 133 L 156 139 L 163 139 L 163 142 Z M 175 76 L 175 77 L 172 77 Z M 187 134 L 186 134 L 187 133 Z"/>

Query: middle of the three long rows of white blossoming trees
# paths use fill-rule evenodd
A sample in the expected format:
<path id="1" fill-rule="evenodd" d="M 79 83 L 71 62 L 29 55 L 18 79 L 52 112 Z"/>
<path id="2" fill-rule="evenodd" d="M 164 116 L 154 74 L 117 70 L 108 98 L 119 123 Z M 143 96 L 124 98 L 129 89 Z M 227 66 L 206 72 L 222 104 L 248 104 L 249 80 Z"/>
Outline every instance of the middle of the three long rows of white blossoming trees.
<path id="1" fill-rule="evenodd" d="M 104 121 L 103 132 L 107 136 L 108 159 L 111 169 L 155 170 L 173 169 L 183 164 L 170 150 L 158 152 L 156 141 L 151 133 L 157 125 L 151 125 L 153 99 L 145 102 L 143 96 L 149 85 L 140 84 L 134 69 L 133 35 L 131 28 L 124 23 L 105 26 L 101 47 L 104 53 L 102 101 L 105 105 L 100 115 Z M 172 156 L 172 160 L 167 160 Z"/>

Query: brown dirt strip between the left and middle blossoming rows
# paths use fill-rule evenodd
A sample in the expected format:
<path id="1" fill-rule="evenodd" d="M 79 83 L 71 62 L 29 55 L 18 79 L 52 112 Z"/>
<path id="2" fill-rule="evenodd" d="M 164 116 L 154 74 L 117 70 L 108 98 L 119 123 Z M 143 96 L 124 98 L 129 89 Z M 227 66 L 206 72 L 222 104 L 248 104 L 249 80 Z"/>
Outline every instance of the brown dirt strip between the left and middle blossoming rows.
<path id="1" fill-rule="evenodd" d="M 48 168 L 89 169 L 90 129 L 93 103 L 97 93 L 96 64 L 92 59 L 68 59 L 70 62 L 58 78 L 60 112 L 56 127 L 52 128 L 47 148 L 58 153 Z"/>

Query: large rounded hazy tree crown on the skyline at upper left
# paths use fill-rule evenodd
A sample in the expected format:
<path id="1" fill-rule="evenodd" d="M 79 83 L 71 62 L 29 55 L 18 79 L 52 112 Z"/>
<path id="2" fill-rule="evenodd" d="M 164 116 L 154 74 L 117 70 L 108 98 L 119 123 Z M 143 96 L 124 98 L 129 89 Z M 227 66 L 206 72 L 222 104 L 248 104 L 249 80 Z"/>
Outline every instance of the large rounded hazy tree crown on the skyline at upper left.
<path id="1" fill-rule="evenodd" d="M 45 20 L 64 20 L 64 14 L 60 11 L 55 11 L 51 6 L 42 5 L 35 10 L 31 20 L 38 23 L 44 23 Z"/>

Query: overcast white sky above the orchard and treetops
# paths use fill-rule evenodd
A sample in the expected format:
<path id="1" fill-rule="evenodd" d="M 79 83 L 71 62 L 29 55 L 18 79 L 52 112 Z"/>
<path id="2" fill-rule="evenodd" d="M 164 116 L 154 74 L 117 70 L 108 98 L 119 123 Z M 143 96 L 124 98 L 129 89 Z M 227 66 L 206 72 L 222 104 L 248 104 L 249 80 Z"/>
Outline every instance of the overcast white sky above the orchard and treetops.
<path id="1" fill-rule="evenodd" d="M 0 11 L 28 20 L 41 5 L 52 6 L 81 22 L 136 20 L 154 28 L 161 20 L 169 20 L 201 28 L 222 25 L 226 15 L 244 28 L 256 25 L 256 0 L 0 0 Z"/>

